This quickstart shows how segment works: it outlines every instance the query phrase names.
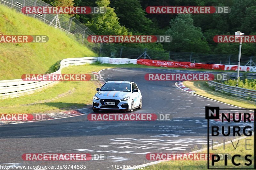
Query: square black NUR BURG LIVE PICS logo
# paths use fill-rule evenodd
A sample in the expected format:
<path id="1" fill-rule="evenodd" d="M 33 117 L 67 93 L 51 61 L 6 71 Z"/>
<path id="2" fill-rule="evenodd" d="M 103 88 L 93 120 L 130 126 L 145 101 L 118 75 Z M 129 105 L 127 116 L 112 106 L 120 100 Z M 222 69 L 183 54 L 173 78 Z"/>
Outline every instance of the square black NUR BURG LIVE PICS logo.
<path id="1" fill-rule="evenodd" d="M 255 112 L 256 109 L 205 106 L 208 169 L 256 168 Z M 215 143 L 219 145 L 215 147 Z M 218 154 L 210 154 L 223 151 L 227 153 L 224 158 L 220 158 Z"/>

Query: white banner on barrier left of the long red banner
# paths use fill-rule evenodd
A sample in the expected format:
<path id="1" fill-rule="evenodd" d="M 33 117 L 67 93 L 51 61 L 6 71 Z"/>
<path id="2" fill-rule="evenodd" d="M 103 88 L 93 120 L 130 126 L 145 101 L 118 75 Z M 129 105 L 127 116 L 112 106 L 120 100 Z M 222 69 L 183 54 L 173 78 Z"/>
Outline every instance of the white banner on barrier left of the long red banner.
<path id="1" fill-rule="evenodd" d="M 137 64 L 137 59 L 99 57 L 98 60 L 101 64 Z"/>

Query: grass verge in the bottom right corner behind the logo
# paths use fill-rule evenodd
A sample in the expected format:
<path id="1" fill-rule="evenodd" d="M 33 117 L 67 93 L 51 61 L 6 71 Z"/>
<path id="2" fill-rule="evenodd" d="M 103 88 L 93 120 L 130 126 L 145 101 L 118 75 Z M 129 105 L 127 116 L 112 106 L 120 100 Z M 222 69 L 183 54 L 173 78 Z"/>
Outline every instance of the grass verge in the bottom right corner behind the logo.
<path id="1" fill-rule="evenodd" d="M 247 149 L 251 149 L 251 150 L 245 150 L 245 140 L 250 140 L 247 141 Z M 239 139 L 239 143 L 237 145 L 237 148 L 234 149 L 232 144 L 225 144 L 225 149 L 223 149 L 223 145 L 219 146 L 219 147 L 215 147 L 213 149 L 217 149 L 217 150 L 211 150 L 210 149 L 210 153 L 229 153 L 231 156 L 235 155 L 235 154 L 240 154 L 241 158 L 236 158 L 235 162 L 239 162 L 241 163 L 242 166 L 239 166 L 239 168 L 253 168 L 253 163 L 251 166 L 245 166 L 244 163 L 248 163 L 248 161 L 244 160 L 244 156 L 247 154 L 251 154 L 252 157 L 250 159 L 252 159 L 253 161 L 253 136 L 251 137 L 247 137 L 244 139 Z M 227 141 L 226 141 L 227 142 Z M 236 147 L 237 141 L 233 142 L 234 146 Z M 207 153 L 207 149 L 200 152 L 200 153 Z M 211 162 L 211 161 L 210 161 Z M 217 162 L 215 164 L 216 166 L 214 166 L 214 168 L 223 168 L 224 167 L 224 160 L 220 160 L 219 162 Z M 231 159 L 228 159 L 228 166 L 226 166 L 225 168 L 236 168 L 234 165 L 232 165 Z M 152 165 L 152 166 L 148 166 L 145 167 L 145 169 L 147 170 L 193 170 L 193 169 L 207 169 L 207 160 L 170 160 L 170 161 L 166 161 L 166 162 L 162 162 L 156 165 Z"/>

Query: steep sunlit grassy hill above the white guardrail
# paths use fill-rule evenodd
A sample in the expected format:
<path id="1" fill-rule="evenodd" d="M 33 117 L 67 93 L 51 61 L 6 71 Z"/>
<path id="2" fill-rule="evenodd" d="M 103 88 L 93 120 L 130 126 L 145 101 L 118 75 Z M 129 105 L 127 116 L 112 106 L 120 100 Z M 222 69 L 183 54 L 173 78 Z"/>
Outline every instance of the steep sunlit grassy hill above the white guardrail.
<path id="1" fill-rule="evenodd" d="M 65 32 L 0 5 L 0 35 L 47 35 L 46 43 L 0 43 L 0 80 L 20 79 L 22 74 L 45 73 L 65 58 L 94 57 Z"/>

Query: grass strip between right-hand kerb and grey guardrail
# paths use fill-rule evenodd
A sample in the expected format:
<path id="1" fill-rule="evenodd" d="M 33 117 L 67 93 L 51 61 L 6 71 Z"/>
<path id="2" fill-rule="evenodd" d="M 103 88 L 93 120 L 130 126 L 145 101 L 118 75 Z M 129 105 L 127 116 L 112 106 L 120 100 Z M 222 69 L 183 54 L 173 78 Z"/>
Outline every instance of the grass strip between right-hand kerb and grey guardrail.
<path id="1" fill-rule="evenodd" d="M 211 87 L 208 86 L 207 81 L 184 81 L 183 84 L 189 89 L 195 90 L 197 95 L 205 96 L 220 102 L 232 104 L 238 107 L 243 108 L 255 108 L 256 103 L 238 98 L 235 96 L 230 96 L 227 93 L 220 93 L 214 91 Z"/>

